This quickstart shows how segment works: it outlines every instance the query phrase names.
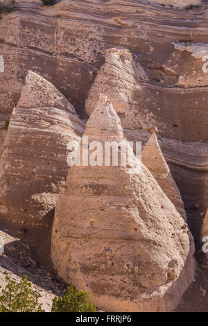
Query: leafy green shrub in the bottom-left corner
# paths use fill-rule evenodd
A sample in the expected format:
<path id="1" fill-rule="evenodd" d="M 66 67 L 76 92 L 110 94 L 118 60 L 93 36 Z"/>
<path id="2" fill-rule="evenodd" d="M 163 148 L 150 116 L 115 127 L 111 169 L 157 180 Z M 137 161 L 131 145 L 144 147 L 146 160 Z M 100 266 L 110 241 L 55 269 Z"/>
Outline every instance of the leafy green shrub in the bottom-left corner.
<path id="1" fill-rule="evenodd" d="M 26 275 L 19 283 L 6 277 L 6 289 L 2 290 L 0 296 L 0 312 L 41 312 L 41 305 L 38 304 L 38 295 L 31 289 Z"/>

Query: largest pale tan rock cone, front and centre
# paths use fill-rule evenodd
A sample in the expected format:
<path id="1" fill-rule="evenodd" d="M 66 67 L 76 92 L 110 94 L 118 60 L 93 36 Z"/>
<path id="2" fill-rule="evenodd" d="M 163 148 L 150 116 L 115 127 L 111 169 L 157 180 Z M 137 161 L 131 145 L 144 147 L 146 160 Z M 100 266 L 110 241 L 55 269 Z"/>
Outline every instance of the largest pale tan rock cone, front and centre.
<path id="1" fill-rule="evenodd" d="M 85 136 L 89 149 L 92 141 L 116 141 L 123 151 L 121 121 L 107 96 L 99 98 Z M 87 291 L 99 308 L 169 311 L 194 276 L 189 230 L 129 151 L 127 166 L 71 167 L 55 208 L 51 258 L 58 276 Z"/>

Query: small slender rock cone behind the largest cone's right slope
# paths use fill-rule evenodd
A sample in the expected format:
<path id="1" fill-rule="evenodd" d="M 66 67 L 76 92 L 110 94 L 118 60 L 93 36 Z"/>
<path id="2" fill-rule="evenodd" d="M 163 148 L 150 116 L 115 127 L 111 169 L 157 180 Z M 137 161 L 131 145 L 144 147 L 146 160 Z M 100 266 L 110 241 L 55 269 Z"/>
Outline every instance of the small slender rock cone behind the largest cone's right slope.
<path id="1" fill-rule="evenodd" d="M 177 212 L 179 212 L 184 220 L 187 221 L 187 215 L 184 209 L 184 203 L 180 196 L 180 191 L 177 188 L 168 164 L 162 155 L 155 132 L 153 132 L 153 135 L 151 135 L 146 146 L 144 146 L 141 160 L 152 173 L 159 187 L 164 191 L 164 194 L 166 194 L 166 196 L 171 200 L 177 209 Z"/>

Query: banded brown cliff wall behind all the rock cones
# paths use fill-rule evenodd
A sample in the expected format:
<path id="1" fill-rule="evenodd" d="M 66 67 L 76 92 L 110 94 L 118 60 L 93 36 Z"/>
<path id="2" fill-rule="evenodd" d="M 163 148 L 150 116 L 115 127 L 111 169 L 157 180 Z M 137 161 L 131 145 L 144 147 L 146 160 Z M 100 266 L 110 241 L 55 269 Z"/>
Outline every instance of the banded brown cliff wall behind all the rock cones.
<path id="1" fill-rule="evenodd" d="M 118 46 L 128 49 L 149 81 L 138 81 L 141 89 L 133 99 L 139 123 L 127 126 L 125 137 L 146 142 L 150 136 L 147 122 L 157 126 L 162 153 L 201 250 L 201 225 L 208 203 L 208 73 L 207 60 L 202 60 L 207 55 L 208 4 L 201 1 L 200 6 L 189 6 L 196 1 L 173 0 L 171 7 L 172 0 L 156 1 L 62 0 L 44 7 L 40 0 L 17 0 L 16 12 L 0 20 L 4 59 L 0 134 L 17 105 L 28 70 L 53 83 L 76 112 L 86 117 L 84 104 L 105 62 L 105 51 Z M 0 142 L 3 146 L 2 137 Z M 200 303 L 196 305 L 196 291 L 190 293 L 191 311 L 202 309 Z M 206 302 L 203 309 L 207 311 Z"/>

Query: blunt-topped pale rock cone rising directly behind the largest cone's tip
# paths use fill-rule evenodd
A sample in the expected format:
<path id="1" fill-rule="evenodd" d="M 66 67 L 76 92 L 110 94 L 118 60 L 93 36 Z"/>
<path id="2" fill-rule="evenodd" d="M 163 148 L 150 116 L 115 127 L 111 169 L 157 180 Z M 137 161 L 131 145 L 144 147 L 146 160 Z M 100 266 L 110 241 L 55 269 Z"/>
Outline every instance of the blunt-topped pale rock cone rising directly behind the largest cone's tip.
<path id="1" fill-rule="evenodd" d="M 137 128 L 137 102 L 135 92 L 141 89 L 138 80 L 148 81 L 144 69 L 132 59 L 127 49 L 108 49 L 105 51 L 105 64 L 98 72 L 94 85 L 89 91 L 85 109 L 90 115 L 101 92 L 107 94 L 114 105 L 123 128 Z"/>

